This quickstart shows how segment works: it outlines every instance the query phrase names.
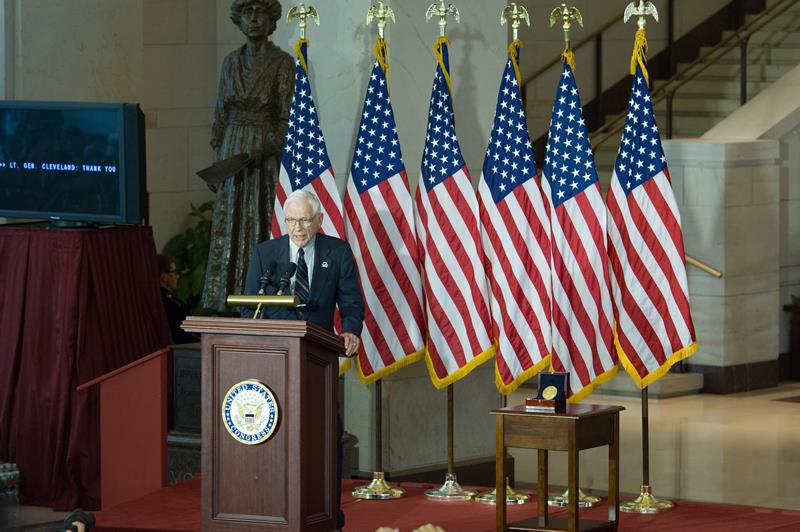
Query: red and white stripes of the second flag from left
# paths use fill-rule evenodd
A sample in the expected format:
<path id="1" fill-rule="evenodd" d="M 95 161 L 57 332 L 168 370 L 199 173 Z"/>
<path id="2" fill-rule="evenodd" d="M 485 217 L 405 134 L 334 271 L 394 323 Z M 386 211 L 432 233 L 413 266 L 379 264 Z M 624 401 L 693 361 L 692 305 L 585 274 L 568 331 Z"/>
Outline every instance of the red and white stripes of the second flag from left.
<path id="1" fill-rule="evenodd" d="M 405 170 L 361 194 L 353 179 L 344 206 L 364 294 L 357 366 L 366 384 L 422 357 L 422 280 Z"/>

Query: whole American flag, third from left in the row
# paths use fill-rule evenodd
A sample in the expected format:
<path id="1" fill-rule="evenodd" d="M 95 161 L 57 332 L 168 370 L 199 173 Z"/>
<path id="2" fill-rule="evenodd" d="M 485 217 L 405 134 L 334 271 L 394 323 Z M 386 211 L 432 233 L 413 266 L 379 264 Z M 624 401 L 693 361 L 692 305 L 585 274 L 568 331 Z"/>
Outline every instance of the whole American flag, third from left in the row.
<path id="1" fill-rule="evenodd" d="M 422 175 L 416 192 L 417 235 L 425 270 L 427 362 L 434 386 L 466 376 L 494 356 L 478 199 L 453 122 L 447 41 L 431 92 Z"/>

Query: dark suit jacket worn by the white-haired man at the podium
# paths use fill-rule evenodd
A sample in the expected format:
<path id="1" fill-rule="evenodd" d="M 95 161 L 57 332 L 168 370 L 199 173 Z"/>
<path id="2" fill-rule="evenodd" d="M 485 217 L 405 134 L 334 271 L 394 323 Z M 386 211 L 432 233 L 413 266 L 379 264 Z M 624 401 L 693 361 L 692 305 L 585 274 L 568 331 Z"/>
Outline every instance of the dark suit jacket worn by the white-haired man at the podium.
<path id="1" fill-rule="evenodd" d="M 245 294 L 258 293 L 261 275 L 271 262 L 275 262 L 276 271 L 267 294 L 275 293 L 278 281 L 289 263 L 288 235 L 256 246 L 247 269 Z M 311 267 L 309 264 L 309 268 Z M 263 316 L 277 320 L 302 319 L 332 331 L 333 311 L 339 305 L 339 314 L 342 316 L 341 332 L 360 335 L 364 325 L 364 300 L 350 244 L 339 238 L 317 234 L 313 268 L 308 310 L 298 312 L 294 309 L 273 307 L 266 309 Z M 253 311 L 242 314 L 252 316 Z"/>

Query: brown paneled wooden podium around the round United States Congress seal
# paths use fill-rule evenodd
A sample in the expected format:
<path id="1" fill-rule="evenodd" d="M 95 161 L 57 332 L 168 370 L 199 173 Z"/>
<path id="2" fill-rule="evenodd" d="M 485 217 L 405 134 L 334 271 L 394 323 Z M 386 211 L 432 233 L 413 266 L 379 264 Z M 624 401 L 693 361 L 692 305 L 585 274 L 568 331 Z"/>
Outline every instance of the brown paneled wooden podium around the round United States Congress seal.
<path id="1" fill-rule="evenodd" d="M 338 355 L 343 340 L 305 321 L 190 316 L 202 334 L 202 529 L 336 528 Z M 234 385 L 259 381 L 278 421 L 257 445 L 237 441 L 223 418 Z"/>

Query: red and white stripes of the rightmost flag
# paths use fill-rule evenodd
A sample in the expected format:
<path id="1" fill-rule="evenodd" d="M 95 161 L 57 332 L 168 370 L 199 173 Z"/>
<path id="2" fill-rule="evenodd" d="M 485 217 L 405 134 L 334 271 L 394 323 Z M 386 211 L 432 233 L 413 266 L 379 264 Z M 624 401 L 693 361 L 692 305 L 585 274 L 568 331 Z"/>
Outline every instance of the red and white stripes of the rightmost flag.
<path id="1" fill-rule="evenodd" d="M 609 258 L 620 357 L 643 388 L 697 349 L 680 213 L 668 170 L 607 197 Z"/>

